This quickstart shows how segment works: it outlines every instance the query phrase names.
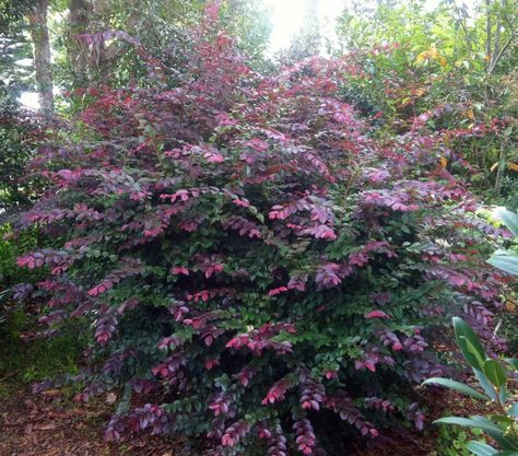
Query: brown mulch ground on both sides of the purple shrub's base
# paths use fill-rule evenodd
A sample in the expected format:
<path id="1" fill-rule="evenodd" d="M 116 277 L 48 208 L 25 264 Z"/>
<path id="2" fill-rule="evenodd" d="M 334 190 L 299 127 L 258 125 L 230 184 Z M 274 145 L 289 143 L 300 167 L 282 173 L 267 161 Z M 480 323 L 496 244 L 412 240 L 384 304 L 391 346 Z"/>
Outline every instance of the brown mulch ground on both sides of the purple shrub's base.
<path id="1" fill-rule="evenodd" d="M 445 411 L 459 416 L 487 412 L 483 404 L 454 391 L 423 388 L 422 394 L 431 407 L 429 421 Z M 0 456 L 185 456 L 178 449 L 181 445 L 164 437 L 138 435 L 106 443 L 103 431 L 113 412 L 109 402 L 107 396 L 79 406 L 58 389 L 35 396 L 13 385 L 11 395 L 0 398 Z M 432 425 L 421 432 L 393 429 L 370 440 L 367 448 L 358 442 L 351 451 L 355 456 L 427 456 L 436 447 L 437 434 Z"/>

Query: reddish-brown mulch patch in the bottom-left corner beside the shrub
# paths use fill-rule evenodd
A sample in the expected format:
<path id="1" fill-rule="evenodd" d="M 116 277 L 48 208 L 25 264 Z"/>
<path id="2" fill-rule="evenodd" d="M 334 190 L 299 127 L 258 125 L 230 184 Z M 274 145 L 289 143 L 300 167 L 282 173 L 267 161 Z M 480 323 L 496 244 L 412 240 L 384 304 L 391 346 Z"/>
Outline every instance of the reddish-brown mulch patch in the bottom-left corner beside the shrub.
<path id="1" fill-rule="evenodd" d="M 60 390 L 10 391 L 0 398 L 0 456 L 179 456 L 173 442 L 149 435 L 106 443 L 110 408 L 103 402 L 78 406 Z"/>

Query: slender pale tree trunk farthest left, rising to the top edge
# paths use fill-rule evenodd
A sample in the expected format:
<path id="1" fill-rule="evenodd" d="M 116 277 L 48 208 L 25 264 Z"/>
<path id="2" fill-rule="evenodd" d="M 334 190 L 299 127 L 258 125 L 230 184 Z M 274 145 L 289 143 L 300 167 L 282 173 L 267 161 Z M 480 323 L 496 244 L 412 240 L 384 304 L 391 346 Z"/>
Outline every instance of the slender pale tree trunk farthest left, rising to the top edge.
<path id="1" fill-rule="evenodd" d="M 39 107 L 42 110 L 50 113 L 54 109 L 54 82 L 47 10 L 48 0 L 37 0 L 28 14 L 28 21 L 34 46 L 34 68 L 39 94 Z"/>

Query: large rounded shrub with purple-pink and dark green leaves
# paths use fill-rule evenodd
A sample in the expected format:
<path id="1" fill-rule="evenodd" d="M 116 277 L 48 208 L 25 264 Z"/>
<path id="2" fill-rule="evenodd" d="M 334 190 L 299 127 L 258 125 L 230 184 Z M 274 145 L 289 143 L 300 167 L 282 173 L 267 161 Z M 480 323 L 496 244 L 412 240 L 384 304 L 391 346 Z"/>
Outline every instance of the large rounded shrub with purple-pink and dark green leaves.
<path id="1" fill-rule="evenodd" d="M 54 186 L 19 227 L 63 244 L 17 259 L 49 272 L 17 296 L 48 295 L 49 325 L 92 321 L 79 399 L 121 388 L 108 439 L 319 455 L 422 428 L 411 385 L 445 370 L 431 328 L 462 315 L 505 343 L 505 273 L 484 262 L 501 232 L 443 166 L 447 133 L 378 142 L 337 96 L 346 59 L 261 77 L 208 36 L 183 84 L 99 94 L 87 139 L 34 161 Z"/>

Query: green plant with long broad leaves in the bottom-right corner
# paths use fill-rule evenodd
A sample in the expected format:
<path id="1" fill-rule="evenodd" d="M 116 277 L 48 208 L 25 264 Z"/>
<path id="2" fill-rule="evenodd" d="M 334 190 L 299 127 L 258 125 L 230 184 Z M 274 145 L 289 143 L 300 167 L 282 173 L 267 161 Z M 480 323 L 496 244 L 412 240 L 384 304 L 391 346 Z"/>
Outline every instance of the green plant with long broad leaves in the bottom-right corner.
<path id="1" fill-rule="evenodd" d="M 474 399 L 492 401 L 497 411 L 488 417 L 445 417 L 435 423 L 457 424 L 484 431 L 498 449 L 484 442 L 471 441 L 467 448 L 476 456 L 518 456 L 518 401 L 516 391 L 509 387 L 516 381 L 518 359 L 501 362 L 488 358 L 479 337 L 461 318 L 454 317 L 454 328 L 457 344 L 472 367 L 480 388 L 439 377 L 428 378 L 424 384 L 445 386 Z"/>

